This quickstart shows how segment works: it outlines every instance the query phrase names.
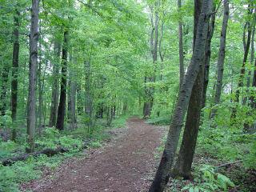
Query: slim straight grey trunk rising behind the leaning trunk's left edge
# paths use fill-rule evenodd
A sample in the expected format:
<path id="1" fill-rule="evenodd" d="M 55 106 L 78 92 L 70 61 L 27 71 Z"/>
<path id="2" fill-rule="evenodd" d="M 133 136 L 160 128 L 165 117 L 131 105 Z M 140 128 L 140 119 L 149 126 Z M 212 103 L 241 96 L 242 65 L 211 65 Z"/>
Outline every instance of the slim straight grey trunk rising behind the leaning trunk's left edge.
<path id="1" fill-rule="evenodd" d="M 178 0 L 178 13 L 182 8 L 181 0 Z M 184 78 L 184 55 L 183 55 L 183 37 L 182 37 L 182 17 L 178 18 L 178 54 L 179 54 L 179 89 L 182 87 Z"/>

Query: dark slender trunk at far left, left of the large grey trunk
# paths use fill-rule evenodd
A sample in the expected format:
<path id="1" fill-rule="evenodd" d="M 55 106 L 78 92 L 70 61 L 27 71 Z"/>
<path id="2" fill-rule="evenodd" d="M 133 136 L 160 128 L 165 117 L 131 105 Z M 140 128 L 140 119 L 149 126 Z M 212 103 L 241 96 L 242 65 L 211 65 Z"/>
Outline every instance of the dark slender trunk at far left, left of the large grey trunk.
<path id="1" fill-rule="evenodd" d="M 17 5 L 18 6 L 18 5 Z M 11 140 L 15 140 L 16 133 L 16 114 L 17 114 L 17 104 L 18 104 L 18 54 L 19 54 L 19 11 L 18 7 L 15 8 L 14 12 L 14 51 L 13 51 L 13 66 L 12 66 L 12 80 L 11 80 L 11 119 L 13 122 L 13 127 L 11 130 Z"/>

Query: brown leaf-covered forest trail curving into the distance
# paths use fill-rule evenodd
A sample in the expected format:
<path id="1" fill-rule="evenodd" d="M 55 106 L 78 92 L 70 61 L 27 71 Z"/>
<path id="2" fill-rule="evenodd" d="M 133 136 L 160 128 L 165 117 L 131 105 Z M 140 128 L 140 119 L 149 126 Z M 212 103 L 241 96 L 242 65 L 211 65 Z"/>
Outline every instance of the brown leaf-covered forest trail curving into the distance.
<path id="1" fill-rule="evenodd" d="M 152 126 L 138 117 L 126 128 L 111 130 L 116 139 L 98 150 L 86 150 L 85 158 L 72 158 L 54 173 L 21 186 L 22 191 L 147 191 L 159 159 L 156 147 L 166 127 Z"/>

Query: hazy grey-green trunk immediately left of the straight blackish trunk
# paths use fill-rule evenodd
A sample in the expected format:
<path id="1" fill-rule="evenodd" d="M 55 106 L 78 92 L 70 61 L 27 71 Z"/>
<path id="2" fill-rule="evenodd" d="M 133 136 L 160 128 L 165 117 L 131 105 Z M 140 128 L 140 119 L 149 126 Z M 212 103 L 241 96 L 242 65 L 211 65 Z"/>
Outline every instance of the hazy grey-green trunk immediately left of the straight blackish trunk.
<path id="1" fill-rule="evenodd" d="M 53 86 L 50 102 L 49 126 L 55 126 L 58 114 L 58 95 L 59 95 L 59 57 L 61 54 L 61 43 L 57 39 L 54 41 L 54 66 L 53 66 Z"/>

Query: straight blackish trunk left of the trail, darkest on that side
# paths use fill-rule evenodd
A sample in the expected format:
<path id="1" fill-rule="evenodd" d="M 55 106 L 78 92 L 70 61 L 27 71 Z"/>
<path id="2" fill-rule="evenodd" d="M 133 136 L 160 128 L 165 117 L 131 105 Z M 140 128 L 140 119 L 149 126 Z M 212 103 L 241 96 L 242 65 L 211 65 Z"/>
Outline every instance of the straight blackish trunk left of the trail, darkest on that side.
<path id="1" fill-rule="evenodd" d="M 62 47 L 62 81 L 61 81 L 61 94 L 58 105 L 58 118 L 56 128 L 64 130 L 64 118 L 66 111 L 66 70 L 67 70 L 67 52 L 68 52 L 68 31 L 64 32 L 64 43 Z"/>

